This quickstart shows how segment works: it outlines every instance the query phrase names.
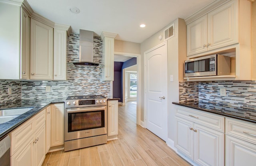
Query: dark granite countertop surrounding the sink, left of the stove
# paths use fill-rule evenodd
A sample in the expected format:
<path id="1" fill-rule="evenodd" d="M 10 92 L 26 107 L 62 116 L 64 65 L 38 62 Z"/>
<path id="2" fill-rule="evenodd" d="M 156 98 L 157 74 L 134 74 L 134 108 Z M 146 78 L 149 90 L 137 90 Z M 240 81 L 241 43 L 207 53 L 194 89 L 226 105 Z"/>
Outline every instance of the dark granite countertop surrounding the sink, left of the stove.
<path id="1" fill-rule="evenodd" d="M 7 134 L 9 134 L 12 130 L 17 128 L 20 124 L 24 123 L 30 117 L 33 115 L 36 115 L 36 113 L 40 112 L 42 109 L 50 105 L 51 103 L 64 103 L 64 99 L 22 99 L 19 105 L 16 105 L 16 107 L 22 107 L 22 108 L 33 108 L 30 111 L 16 117 L 15 119 L 12 119 L 11 121 L 8 121 L 6 123 L 0 124 L 0 140 L 4 138 Z M 2 109 L 13 109 L 13 108 L 4 108 Z"/>

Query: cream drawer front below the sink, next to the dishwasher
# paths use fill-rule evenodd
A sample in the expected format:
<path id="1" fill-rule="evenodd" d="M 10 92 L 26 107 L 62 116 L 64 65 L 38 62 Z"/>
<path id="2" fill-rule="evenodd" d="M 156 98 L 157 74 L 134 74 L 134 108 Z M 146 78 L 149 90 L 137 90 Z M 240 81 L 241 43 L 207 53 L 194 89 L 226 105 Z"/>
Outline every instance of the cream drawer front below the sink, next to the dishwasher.
<path id="1" fill-rule="evenodd" d="M 10 133 L 10 156 L 12 156 L 14 152 L 16 152 L 16 150 L 18 150 L 18 148 L 20 148 L 20 146 L 22 146 L 22 144 L 28 140 L 33 132 L 33 121 L 30 119 Z"/>

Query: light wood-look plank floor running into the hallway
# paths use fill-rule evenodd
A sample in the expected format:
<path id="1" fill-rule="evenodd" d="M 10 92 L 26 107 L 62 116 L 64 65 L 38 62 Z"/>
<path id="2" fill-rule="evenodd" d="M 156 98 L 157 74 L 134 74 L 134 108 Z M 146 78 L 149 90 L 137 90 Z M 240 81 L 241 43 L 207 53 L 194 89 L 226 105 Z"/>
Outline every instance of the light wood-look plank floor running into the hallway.
<path id="1" fill-rule="evenodd" d="M 190 166 L 149 130 L 136 125 L 136 102 L 118 107 L 118 139 L 50 152 L 42 166 Z"/>

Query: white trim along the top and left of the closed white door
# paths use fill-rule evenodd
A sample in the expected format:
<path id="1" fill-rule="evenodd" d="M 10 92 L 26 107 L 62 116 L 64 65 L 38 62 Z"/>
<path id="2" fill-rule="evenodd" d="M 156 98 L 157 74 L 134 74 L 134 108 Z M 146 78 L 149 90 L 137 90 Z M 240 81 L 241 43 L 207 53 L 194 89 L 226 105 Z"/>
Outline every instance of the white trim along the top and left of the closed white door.
<path id="1" fill-rule="evenodd" d="M 149 50 L 144 52 L 144 72 L 146 71 L 146 54 L 151 52 L 151 51 L 153 51 L 153 50 L 155 50 L 155 49 L 158 49 L 159 47 L 162 47 L 163 45 L 166 45 L 168 47 L 167 41 L 164 41 L 161 44 L 158 44 L 155 47 L 153 47 L 153 48 L 151 48 L 151 49 L 149 49 Z M 168 53 L 168 51 L 167 51 L 167 53 Z M 168 59 L 168 55 L 167 55 L 167 59 Z M 137 79 L 138 79 L 138 76 L 137 76 Z M 144 73 L 144 88 L 146 87 L 146 81 L 145 80 L 146 80 L 146 74 Z M 145 126 L 145 128 L 147 126 L 147 123 L 146 123 L 146 111 L 147 111 L 146 110 L 146 89 L 144 89 L 144 126 Z M 167 128 L 167 131 L 168 131 L 168 128 Z"/>

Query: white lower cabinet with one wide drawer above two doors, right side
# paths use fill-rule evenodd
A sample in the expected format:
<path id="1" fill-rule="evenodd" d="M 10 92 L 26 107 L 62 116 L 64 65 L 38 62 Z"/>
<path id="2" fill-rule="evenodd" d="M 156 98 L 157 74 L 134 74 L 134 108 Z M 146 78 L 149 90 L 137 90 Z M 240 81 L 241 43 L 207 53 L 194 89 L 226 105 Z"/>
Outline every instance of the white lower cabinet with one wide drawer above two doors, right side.
<path id="1" fill-rule="evenodd" d="M 224 118 L 178 107 L 176 138 L 178 152 L 201 166 L 224 166 Z"/>

